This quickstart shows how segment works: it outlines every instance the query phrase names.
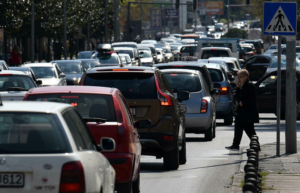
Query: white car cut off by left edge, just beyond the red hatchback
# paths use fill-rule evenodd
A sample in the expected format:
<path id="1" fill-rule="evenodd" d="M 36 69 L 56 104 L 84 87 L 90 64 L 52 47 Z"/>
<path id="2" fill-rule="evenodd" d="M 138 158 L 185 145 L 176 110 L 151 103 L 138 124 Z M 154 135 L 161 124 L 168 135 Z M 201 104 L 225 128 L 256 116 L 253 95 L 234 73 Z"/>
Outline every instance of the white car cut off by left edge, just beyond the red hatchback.
<path id="1" fill-rule="evenodd" d="M 2 100 L 22 100 L 29 89 L 38 87 L 36 84 L 42 84 L 42 81 L 36 80 L 35 82 L 24 72 L 16 70 L 0 71 L 0 97 Z"/>

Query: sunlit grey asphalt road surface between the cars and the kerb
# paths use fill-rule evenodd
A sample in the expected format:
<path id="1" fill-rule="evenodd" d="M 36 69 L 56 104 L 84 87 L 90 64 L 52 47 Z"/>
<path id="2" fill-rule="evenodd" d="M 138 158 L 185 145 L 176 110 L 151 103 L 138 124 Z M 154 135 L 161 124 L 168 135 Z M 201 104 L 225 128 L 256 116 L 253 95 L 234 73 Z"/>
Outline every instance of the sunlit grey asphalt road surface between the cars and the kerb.
<path id="1" fill-rule="evenodd" d="M 256 133 L 260 144 L 276 142 L 276 117 L 274 114 L 259 114 L 260 123 Z M 177 192 L 230 192 L 230 177 L 239 169 L 241 152 L 249 147 L 249 138 L 244 133 L 240 151 L 229 151 L 224 147 L 232 144 L 233 128 L 217 120 L 216 138 L 205 141 L 203 134 L 186 134 L 187 163 L 178 170 L 166 171 L 163 160 L 153 156 L 142 156 L 140 166 L 140 189 L 142 193 Z M 285 121 L 281 120 L 280 141 L 285 141 Z M 300 121 L 297 121 L 297 136 L 300 137 Z M 300 138 L 297 138 L 300 141 Z"/>

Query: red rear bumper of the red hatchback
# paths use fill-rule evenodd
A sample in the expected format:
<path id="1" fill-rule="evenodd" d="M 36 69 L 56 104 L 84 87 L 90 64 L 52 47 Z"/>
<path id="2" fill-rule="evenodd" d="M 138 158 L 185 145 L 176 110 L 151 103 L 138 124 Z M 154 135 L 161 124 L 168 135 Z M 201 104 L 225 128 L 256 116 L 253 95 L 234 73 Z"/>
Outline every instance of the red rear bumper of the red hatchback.
<path id="1" fill-rule="evenodd" d="M 134 154 L 103 152 L 116 171 L 116 183 L 128 182 L 133 171 Z"/>

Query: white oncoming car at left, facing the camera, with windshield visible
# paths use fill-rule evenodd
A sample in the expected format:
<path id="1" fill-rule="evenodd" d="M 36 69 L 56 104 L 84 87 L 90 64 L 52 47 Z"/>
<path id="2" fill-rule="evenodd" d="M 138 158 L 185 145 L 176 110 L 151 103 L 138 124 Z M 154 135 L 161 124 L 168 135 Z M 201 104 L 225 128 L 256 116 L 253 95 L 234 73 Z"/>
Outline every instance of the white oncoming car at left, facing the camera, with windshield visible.
<path id="1" fill-rule="evenodd" d="M 65 86 L 67 85 L 66 75 L 62 73 L 58 64 L 52 63 L 28 63 L 22 67 L 31 67 L 43 86 Z"/>

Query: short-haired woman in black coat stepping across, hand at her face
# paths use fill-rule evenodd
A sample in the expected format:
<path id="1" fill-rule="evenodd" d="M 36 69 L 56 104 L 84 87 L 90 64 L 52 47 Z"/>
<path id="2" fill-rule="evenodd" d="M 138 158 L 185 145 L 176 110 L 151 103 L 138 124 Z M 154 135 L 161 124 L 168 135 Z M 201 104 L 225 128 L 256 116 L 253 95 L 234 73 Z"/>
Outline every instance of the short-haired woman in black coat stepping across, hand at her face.
<path id="1" fill-rule="evenodd" d="M 243 130 L 249 139 L 251 139 L 252 135 L 256 135 L 254 123 L 259 123 L 256 90 L 256 86 L 249 79 L 249 72 L 247 70 L 239 70 L 235 91 L 238 99 L 238 108 L 237 116 L 234 120 L 234 138 L 232 145 L 225 147 L 227 150 L 240 150 L 239 145 L 243 136 Z"/>

